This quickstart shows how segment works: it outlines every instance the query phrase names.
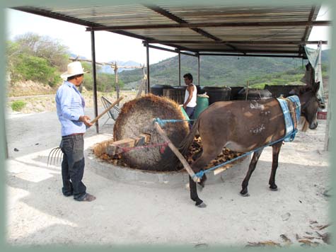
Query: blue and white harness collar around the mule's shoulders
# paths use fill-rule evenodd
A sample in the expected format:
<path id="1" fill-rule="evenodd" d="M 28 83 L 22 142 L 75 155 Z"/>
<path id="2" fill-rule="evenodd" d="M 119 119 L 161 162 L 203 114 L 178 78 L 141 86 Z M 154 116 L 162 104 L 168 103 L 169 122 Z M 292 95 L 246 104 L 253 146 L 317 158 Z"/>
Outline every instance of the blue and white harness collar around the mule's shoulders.
<path id="1" fill-rule="evenodd" d="M 296 113 L 296 125 L 299 122 L 301 115 L 301 104 L 298 96 L 289 96 L 286 99 L 294 103 L 295 113 Z M 283 98 L 277 98 L 279 101 L 280 107 L 282 108 L 282 113 L 284 114 L 284 124 L 286 128 L 286 134 L 284 138 L 284 142 L 292 142 L 295 138 L 295 134 L 293 134 L 294 130 L 296 130 L 295 122 L 293 118 L 291 118 L 291 114 L 289 112 L 287 100 Z"/>

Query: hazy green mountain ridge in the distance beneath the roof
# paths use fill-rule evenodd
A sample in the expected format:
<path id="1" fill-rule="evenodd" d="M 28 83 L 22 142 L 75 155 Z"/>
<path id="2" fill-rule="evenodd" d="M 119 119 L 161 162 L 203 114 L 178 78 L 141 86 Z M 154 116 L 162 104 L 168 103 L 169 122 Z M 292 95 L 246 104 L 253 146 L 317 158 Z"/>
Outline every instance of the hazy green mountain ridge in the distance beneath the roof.
<path id="1" fill-rule="evenodd" d="M 330 50 L 323 50 L 323 64 L 329 62 Z M 200 58 L 200 85 L 202 86 L 245 86 L 246 82 L 257 84 L 267 79 L 282 79 L 282 76 L 295 76 L 301 79 L 307 60 L 296 58 L 271 57 L 231 57 L 202 56 Z M 150 65 L 150 83 L 178 86 L 178 56 Z M 183 74 L 190 72 L 194 83 L 198 84 L 197 58 L 181 55 L 181 85 Z M 142 78 L 142 70 L 123 71 L 119 78 L 124 88 L 137 88 Z M 285 78 L 292 81 L 293 78 Z M 259 81 L 260 80 L 260 81 Z M 281 81 L 278 81 L 281 83 Z"/>

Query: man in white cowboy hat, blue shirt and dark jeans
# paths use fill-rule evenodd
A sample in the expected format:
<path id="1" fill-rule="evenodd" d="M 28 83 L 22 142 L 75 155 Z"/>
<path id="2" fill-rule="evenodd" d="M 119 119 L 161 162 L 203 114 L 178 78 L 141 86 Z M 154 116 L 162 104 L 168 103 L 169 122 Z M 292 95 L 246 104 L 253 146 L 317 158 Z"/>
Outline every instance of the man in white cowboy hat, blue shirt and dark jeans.
<path id="1" fill-rule="evenodd" d="M 81 181 L 84 173 L 84 139 L 83 134 L 92 123 L 84 115 L 85 102 L 78 91 L 83 81 L 84 71 L 81 62 L 68 64 L 68 69 L 61 77 L 64 83 L 57 90 L 55 101 L 57 116 L 62 125 L 62 142 L 59 147 L 63 152 L 62 193 L 74 195 L 78 201 L 92 201 L 95 196 L 86 193 L 86 186 Z"/>

